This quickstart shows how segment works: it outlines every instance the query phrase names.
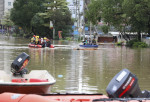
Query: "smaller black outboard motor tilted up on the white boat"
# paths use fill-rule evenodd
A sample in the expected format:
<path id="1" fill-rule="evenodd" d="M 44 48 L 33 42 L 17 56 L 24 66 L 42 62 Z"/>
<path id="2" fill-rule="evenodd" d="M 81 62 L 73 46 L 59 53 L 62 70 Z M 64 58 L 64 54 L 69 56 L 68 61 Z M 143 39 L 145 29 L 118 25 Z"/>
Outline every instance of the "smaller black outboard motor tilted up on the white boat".
<path id="1" fill-rule="evenodd" d="M 28 65 L 29 62 L 29 55 L 23 52 L 20 54 L 11 64 L 11 72 L 13 75 L 23 75 L 26 74 L 27 68 L 25 68 Z"/>

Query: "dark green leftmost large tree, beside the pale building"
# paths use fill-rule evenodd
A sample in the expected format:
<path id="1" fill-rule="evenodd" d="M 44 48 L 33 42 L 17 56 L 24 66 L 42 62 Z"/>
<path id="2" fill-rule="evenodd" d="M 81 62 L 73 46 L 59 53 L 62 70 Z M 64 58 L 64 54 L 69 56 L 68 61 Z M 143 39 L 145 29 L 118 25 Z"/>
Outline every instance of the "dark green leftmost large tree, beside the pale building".
<path id="1" fill-rule="evenodd" d="M 11 10 L 11 20 L 20 26 L 24 33 L 32 32 L 31 20 L 38 12 L 44 11 L 43 0 L 15 0 Z"/>

